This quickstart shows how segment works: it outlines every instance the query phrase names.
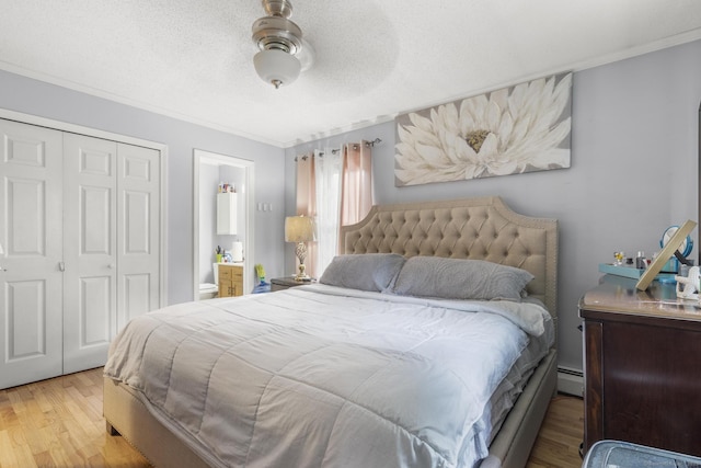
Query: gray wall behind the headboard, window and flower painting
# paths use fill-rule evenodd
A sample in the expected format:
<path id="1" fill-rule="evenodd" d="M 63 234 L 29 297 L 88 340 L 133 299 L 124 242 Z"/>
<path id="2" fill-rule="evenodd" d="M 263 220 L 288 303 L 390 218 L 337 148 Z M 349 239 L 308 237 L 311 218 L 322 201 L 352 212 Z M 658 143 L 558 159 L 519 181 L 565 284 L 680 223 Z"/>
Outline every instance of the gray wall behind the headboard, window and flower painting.
<path id="1" fill-rule="evenodd" d="M 576 72 L 570 169 L 398 189 L 395 128 L 386 123 L 286 150 L 286 213 L 295 210 L 296 155 L 379 137 L 376 203 L 499 195 L 518 213 L 558 218 L 560 365 L 582 369 L 577 303 L 598 283 L 598 264 L 616 250 L 652 254 L 668 226 L 698 220 L 700 57 L 694 42 Z M 287 270 L 294 259 L 287 248 Z"/>

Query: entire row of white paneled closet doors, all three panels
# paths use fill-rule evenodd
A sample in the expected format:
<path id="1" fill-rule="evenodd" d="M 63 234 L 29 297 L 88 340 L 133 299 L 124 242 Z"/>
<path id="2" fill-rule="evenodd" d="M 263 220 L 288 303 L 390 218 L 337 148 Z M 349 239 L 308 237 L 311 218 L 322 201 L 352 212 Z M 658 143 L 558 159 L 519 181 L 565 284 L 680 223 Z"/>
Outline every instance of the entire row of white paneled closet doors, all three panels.
<path id="1" fill-rule="evenodd" d="M 103 365 L 117 331 L 159 306 L 160 152 L 9 121 L 0 130 L 5 388 Z"/>

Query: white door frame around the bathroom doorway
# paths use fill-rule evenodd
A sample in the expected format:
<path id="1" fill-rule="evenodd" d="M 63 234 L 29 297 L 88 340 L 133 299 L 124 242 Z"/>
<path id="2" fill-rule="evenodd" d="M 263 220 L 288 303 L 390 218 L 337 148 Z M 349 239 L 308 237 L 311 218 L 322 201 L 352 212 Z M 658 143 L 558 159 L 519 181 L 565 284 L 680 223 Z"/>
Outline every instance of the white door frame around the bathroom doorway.
<path id="1" fill-rule="evenodd" d="M 233 156 L 221 155 L 217 152 L 194 149 L 194 167 L 193 167 L 193 297 L 194 300 L 199 299 L 199 168 L 205 163 L 215 163 L 219 165 L 230 165 L 244 170 L 245 192 L 245 242 L 243 242 L 243 259 L 245 267 L 243 272 L 243 292 L 250 293 L 253 289 L 253 281 L 251 279 L 252 267 L 255 264 L 253 258 L 254 237 L 253 237 L 253 216 L 255 202 L 253 197 L 253 169 L 254 162 L 250 159 L 237 158 Z"/>

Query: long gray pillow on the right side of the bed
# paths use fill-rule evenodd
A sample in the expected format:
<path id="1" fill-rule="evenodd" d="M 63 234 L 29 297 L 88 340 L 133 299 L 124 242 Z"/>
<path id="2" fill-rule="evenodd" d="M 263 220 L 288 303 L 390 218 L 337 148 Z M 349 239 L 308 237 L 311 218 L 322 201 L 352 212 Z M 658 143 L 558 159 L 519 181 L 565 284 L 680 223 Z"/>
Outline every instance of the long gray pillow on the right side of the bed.
<path id="1" fill-rule="evenodd" d="M 397 277 L 393 292 L 444 299 L 520 300 L 529 272 L 482 260 L 412 256 Z"/>

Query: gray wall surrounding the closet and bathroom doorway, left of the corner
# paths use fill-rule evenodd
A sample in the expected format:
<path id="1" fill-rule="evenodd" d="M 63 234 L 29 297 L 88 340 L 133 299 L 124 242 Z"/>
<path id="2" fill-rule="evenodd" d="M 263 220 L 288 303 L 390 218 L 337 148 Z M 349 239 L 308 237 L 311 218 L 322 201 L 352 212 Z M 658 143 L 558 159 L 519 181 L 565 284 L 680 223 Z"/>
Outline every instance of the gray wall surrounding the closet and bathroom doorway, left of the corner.
<path id="1" fill-rule="evenodd" d="M 193 299 L 193 150 L 255 162 L 255 201 L 283 206 L 284 150 L 0 70 L 0 107 L 168 146 L 168 304 Z M 255 212 L 255 262 L 283 274 L 283 210 Z"/>

